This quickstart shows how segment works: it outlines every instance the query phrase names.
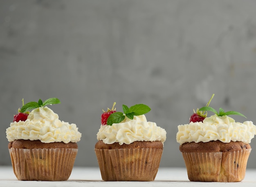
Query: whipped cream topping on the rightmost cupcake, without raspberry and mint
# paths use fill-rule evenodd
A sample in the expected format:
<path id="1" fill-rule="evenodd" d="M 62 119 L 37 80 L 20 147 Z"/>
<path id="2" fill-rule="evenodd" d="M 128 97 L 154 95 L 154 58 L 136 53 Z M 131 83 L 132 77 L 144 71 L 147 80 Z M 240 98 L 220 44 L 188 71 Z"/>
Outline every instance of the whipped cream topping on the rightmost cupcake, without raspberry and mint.
<path id="1" fill-rule="evenodd" d="M 185 142 L 209 142 L 220 140 L 224 143 L 241 141 L 250 143 L 256 135 L 256 126 L 252 121 L 235 122 L 229 116 L 213 115 L 203 122 L 190 122 L 179 125 L 176 140 L 180 145 Z"/>

